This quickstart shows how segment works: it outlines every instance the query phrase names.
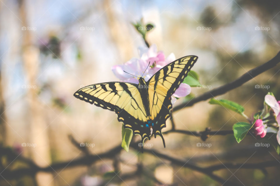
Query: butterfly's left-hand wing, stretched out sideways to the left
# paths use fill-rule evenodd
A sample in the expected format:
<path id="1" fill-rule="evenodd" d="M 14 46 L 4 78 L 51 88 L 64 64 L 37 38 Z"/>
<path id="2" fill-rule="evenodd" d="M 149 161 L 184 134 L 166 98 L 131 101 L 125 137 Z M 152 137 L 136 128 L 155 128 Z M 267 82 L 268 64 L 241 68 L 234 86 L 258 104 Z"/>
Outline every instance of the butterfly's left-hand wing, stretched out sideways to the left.
<path id="1" fill-rule="evenodd" d="M 89 85 L 74 93 L 78 99 L 94 104 L 98 107 L 114 111 L 118 121 L 124 123 L 125 128 L 132 129 L 134 134 L 143 135 L 150 129 L 142 127 L 148 121 L 138 85 L 127 82 L 108 82 Z"/>

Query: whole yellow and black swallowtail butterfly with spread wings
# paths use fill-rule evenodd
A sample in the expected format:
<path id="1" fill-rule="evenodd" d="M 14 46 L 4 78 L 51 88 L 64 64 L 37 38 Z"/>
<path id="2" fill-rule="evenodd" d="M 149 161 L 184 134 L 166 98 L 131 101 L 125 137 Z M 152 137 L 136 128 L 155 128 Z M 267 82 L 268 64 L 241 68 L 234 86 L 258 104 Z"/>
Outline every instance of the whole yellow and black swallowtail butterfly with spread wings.
<path id="1" fill-rule="evenodd" d="M 89 85 L 74 93 L 78 99 L 98 107 L 114 111 L 124 128 L 141 136 L 141 143 L 154 135 L 162 136 L 162 128 L 170 117 L 171 95 L 183 82 L 197 61 L 197 56 L 179 58 L 159 71 L 147 82 L 139 78 L 139 84 L 107 82 Z M 142 146 L 143 147 L 143 146 Z"/>

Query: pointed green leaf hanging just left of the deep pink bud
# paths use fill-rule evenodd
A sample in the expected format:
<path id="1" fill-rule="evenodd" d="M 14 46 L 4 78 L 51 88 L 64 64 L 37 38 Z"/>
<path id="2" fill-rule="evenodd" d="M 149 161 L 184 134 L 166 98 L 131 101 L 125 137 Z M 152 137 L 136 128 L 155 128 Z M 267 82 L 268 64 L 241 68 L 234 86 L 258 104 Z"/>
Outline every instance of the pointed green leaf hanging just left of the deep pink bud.
<path id="1" fill-rule="evenodd" d="M 246 136 L 248 131 L 253 127 L 254 124 L 246 122 L 238 122 L 233 125 L 232 130 L 236 141 L 239 143 Z"/>

